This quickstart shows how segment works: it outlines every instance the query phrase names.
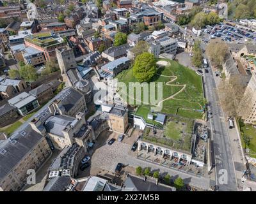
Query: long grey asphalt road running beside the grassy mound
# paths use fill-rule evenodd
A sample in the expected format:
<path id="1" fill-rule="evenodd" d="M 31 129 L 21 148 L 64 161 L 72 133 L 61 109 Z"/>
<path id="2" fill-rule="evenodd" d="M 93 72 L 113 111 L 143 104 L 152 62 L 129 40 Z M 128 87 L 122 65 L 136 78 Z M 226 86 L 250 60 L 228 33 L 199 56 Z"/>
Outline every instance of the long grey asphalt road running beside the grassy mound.
<path id="1" fill-rule="evenodd" d="M 236 173 L 230 145 L 228 129 L 216 91 L 214 73 L 209 64 L 209 73 L 205 73 L 205 91 L 212 115 L 209 119 L 216 164 L 216 185 L 218 191 L 237 191 Z M 223 174 L 224 173 L 224 174 Z M 227 177 L 225 177 L 227 175 Z M 224 177 L 223 177 L 224 176 Z M 224 179 L 224 182 L 223 180 Z M 227 181 L 227 182 L 225 182 Z"/>

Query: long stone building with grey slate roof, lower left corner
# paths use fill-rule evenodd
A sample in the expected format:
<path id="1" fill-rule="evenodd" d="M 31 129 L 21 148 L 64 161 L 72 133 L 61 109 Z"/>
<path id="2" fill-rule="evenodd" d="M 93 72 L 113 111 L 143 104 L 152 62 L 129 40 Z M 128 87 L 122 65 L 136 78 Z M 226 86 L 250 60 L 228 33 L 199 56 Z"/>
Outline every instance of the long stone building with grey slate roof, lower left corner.
<path id="1" fill-rule="evenodd" d="M 38 170 L 51 155 L 51 149 L 45 137 L 33 131 L 29 125 L 1 142 L 0 191 L 19 191 L 26 184 L 27 171 Z"/>

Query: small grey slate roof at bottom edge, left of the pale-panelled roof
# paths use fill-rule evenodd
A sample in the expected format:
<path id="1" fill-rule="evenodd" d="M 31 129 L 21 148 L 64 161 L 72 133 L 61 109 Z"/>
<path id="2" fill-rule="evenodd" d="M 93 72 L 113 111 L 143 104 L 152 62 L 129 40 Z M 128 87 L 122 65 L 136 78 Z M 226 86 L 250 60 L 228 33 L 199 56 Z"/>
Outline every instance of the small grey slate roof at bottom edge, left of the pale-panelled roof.
<path id="1" fill-rule="evenodd" d="M 70 183 L 70 177 L 55 177 L 46 184 L 43 191 L 65 191 Z"/>

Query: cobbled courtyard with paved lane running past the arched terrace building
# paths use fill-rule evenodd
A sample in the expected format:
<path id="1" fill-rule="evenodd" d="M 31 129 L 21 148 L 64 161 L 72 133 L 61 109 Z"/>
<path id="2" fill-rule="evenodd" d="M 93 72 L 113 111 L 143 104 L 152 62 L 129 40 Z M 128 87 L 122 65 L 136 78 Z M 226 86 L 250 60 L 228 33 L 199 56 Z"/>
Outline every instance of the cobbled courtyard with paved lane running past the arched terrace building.
<path id="1" fill-rule="evenodd" d="M 123 142 L 116 141 L 113 145 L 108 145 L 107 142 L 110 138 L 117 138 L 118 133 L 112 133 L 108 138 L 101 140 L 101 144 L 96 147 L 92 154 L 92 165 L 90 167 L 90 174 L 97 174 L 96 171 L 106 170 L 109 172 L 114 172 L 117 163 L 124 163 L 129 165 L 129 167 L 136 168 L 141 166 L 142 168 L 150 167 L 152 171 L 159 170 L 160 173 L 169 173 L 172 179 L 176 179 L 178 176 L 184 179 L 186 184 L 191 184 L 191 186 L 199 187 L 201 189 L 209 189 L 210 179 L 205 177 L 196 177 L 193 175 L 188 175 L 159 164 L 149 163 L 136 158 L 136 152 L 131 151 L 131 145 L 136 140 L 136 135 L 131 138 L 124 138 Z M 98 138 L 100 140 L 100 138 Z M 129 168 L 125 168 L 129 171 Z M 89 173 L 89 172 L 88 172 Z M 133 172 L 134 173 L 134 170 Z M 79 176 L 80 177 L 80 176 Z"/>

